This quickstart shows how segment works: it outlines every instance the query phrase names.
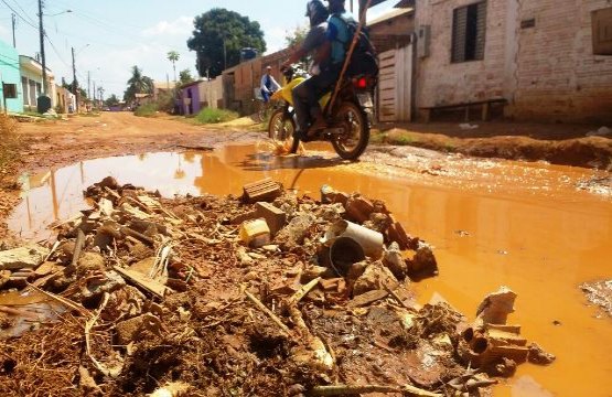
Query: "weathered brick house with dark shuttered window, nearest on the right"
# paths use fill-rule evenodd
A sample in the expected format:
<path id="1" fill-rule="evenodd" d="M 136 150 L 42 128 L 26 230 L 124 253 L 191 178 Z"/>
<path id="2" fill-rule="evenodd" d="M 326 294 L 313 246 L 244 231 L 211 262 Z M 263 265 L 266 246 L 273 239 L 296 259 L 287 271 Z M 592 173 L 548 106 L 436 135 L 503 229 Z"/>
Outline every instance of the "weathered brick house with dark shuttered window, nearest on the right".
<path id="1" fill-rule="evenodd" d="M 517 120 L 612 121 L 609 0 L 419 0 L 415 109 L 491 101 Z"/>

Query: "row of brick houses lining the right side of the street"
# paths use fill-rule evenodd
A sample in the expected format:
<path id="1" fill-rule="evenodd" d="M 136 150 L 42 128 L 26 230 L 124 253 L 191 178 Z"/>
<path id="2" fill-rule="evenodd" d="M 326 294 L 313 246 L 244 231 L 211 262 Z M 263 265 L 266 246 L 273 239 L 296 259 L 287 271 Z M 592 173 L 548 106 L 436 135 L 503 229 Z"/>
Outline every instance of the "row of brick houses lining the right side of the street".
<path id="1" fill-rule="evenodd" d="M 368 22 L 383 121 L 458 117 L 612 122 L 610 0 L 401 0 Z M 181 88 L 182 110 L 254 111 L 261 74 L 287 51 Z M 475 110 L 475 111 L 474 111 Z"/>

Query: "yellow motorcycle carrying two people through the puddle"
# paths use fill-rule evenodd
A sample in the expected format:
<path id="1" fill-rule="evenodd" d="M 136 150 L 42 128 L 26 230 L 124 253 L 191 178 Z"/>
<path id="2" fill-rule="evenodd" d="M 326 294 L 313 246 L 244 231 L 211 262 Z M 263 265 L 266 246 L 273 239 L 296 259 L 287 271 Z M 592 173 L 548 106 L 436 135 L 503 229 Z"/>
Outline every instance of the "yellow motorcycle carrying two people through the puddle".
<path id="1" fill-rule="evenodd" d="M 299 137 L 296 137 L 297 122 L 291 92 L 305 79 L 294 77 L 292 69 L 286 72 L 286 85 L 271 97 L 278 105 L 270 116 L 268 126 L 270 139 L 290 148 L 291 153 L 294 153 L 300 144 Z M 376 78 L 372 76 L 343 78 L 331 109 L 332 93 L 321 98 L 320 105 L 328 126 L 313 131 L 309 141 L 329 141 L 342 159 L 358 159 L 369 142 L 375 86 Z"/>

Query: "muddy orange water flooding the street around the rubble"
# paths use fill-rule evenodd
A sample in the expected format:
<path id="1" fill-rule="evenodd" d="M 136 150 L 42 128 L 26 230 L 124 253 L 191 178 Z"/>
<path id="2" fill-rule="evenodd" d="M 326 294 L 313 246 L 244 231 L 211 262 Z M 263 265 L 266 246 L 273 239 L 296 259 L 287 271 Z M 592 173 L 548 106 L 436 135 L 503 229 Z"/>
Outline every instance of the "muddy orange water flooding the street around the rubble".
<path id="1" fill-rule="evenodd" d="M 480 164 L 480 165 L 479 165 Z M 612 396 L 612 321 L 586 304 L 578 286 L 612 277 L 612 201 L 578 191 L 590 171 L 546 164 L 474 162 L 469 174 L 382 172 L 325 155 L 273 158 L 254 147 L 213 153 L 155 153 L 93 160 L 41 175 L 10 219 L 13 230 L 45 238 L 44 226 L 84 206 L 82 191 L 107 175 L 164 195 L 240 194 L 264 176 L 318 196 L 322 184 L 385 200 L 409 232 L 436 246 L 440 277 L 415 286 L 421 302 L 438 292 L 473 318 L 486 293 L 518 293 L 511 322 L 557 355 L 522 365 L 495 396 Z M 404 175 L 402 175 L 404 173 Z"/>

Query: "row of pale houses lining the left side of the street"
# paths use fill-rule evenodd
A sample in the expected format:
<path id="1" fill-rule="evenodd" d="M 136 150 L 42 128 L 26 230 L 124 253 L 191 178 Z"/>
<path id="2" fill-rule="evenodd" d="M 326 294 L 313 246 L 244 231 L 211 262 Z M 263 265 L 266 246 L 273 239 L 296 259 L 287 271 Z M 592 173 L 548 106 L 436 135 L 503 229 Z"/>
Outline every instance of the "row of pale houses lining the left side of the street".
<path id="1" fill-rule="evenodd" d="M 47 96 L 54 109 L 62 112 L 76 108 L 76 97 L 55 84 L 55 76 L 46 71 Z M 3 112 L 36 111 L 37 98 L 43 92 L 43 67 L 31 56 L 0 41 L 0 108 Z"/>

